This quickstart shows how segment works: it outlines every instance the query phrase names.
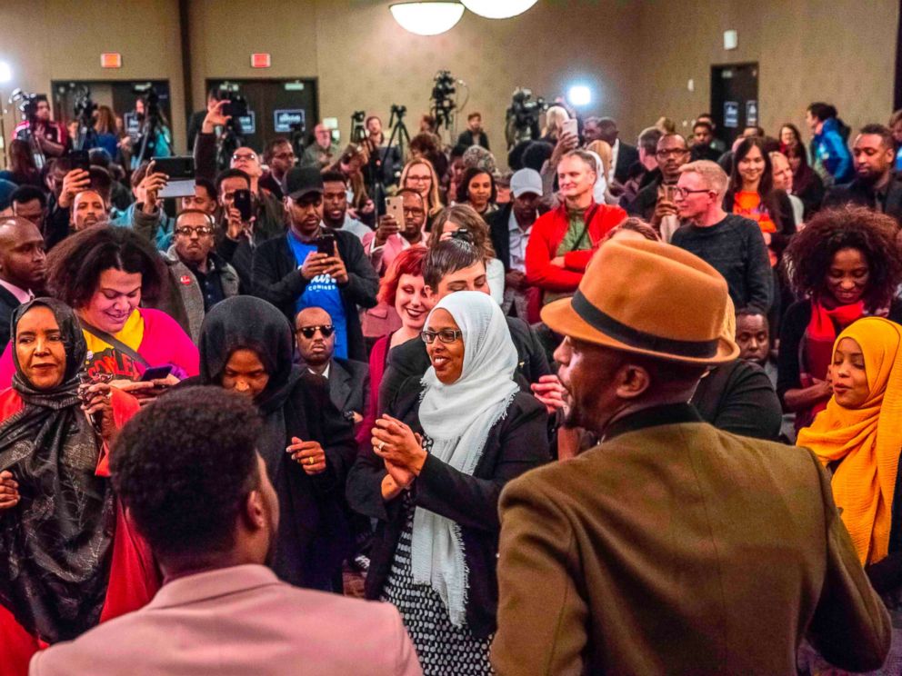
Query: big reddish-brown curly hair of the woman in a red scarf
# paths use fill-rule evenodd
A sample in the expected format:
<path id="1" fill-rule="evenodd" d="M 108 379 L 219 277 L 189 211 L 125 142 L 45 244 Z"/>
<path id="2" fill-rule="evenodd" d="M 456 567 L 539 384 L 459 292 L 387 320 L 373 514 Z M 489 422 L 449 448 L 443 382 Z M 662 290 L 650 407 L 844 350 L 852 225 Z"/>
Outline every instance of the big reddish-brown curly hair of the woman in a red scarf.
<path id="1" fill-rule="evenodd" d="M 897 232 L 893 218 L 865 207 L 818 212 L 792 238 L 784 254 L 789 282 L 800 298 L 826 293 L 833 256 L 840 249 L 856 249 L 865 256 L 870 273 L 863 297 L 868 311 L 886 307 L 902 281 Z"/>

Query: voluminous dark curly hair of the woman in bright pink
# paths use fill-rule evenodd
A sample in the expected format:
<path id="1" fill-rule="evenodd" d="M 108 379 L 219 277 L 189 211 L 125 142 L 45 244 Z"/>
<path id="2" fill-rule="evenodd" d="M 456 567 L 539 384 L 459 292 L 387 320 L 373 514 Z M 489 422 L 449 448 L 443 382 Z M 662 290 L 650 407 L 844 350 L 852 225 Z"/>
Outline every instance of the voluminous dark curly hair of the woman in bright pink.
<path id="1" fill-rule="evenodd" d="M 105 270 L 140 273 L 141 299 L 155 303 L 165 288 L 163 258 L 129 228 L 88 228 L 66 237 L 47 254 L 47 291 L 75 309 L 91 300 Z"/>

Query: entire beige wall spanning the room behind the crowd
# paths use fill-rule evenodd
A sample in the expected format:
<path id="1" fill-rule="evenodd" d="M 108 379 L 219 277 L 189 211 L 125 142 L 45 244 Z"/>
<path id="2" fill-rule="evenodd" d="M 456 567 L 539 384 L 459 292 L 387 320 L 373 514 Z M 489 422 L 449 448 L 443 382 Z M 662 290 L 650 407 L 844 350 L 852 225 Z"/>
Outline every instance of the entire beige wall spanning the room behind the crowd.
<path id="1" fill-rule="evenodd" d="M 337 117 L 345 138 L 352 111 L 387 122 L 393 103 L 407 106 L 416 133 L 433 76 L 448 69 L 469 84 L 465 113 L 483 113 L 496 150 L 517 85 L 551 98 L 577 80 L 596 90 L 591 112 L 616 117 L 632 140 L 659 114 L 689 124 L 709 107 L 711 65 L 747 61 L 760 65 L 761 121 L 772 133 L 785 120 L 802 124 L 817 98 L 852 125 L 884 121 L 892 105 L 895 0 L 540 0 L 506 21 L 466 13 L 436 37 L 406 33 L 388 5 L 191 0 L 194 107 L 207 77 L 316 77 L 320 113 Z M 723 50 L 728 28 L 736 51 Z M 121 52 L 124 67 L 101 69 L 104 51 Z M 252 52 L 271 53 L 273 67 L 252 69 Z M 178 0 L 0 0 L 0 60 L 15 73 L 6 96 L 15 86 L 48 91 L 53 79 L 167 78 L 176 145 L 185 143 Z"/>

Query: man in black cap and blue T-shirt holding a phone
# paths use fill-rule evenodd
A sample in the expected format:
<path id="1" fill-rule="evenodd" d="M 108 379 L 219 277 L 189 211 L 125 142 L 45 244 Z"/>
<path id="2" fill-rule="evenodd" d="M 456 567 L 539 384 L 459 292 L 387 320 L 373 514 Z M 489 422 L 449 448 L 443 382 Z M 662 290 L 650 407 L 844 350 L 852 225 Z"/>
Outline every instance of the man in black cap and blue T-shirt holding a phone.
<path id="1" fill-rule="evenodd" d="M 321 307 L 336 330 L 336 356 L 366 361 L 357 305 L 376 305 L 379 278 L 355 234 L 323 227 L 323 177 L 316 167 L 286 176 L 288 232 L 260 244 L 253 258 L 253 293 L 292 322 Z"/>

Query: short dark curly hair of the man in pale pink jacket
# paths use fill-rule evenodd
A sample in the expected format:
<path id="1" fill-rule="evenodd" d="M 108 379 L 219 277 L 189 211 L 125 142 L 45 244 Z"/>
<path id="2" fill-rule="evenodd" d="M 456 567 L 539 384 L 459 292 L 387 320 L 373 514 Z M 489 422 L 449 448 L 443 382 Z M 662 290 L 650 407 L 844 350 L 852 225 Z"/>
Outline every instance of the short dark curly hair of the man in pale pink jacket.
<path id="1" fill-rule="evenodd" d="M 113 485 L 155 553 L 234 545 L 242 502 L 262 478 L 261 429 L 250 399 L 221 387 L 175 390 L 125 424 L 110 454 Z"/>

